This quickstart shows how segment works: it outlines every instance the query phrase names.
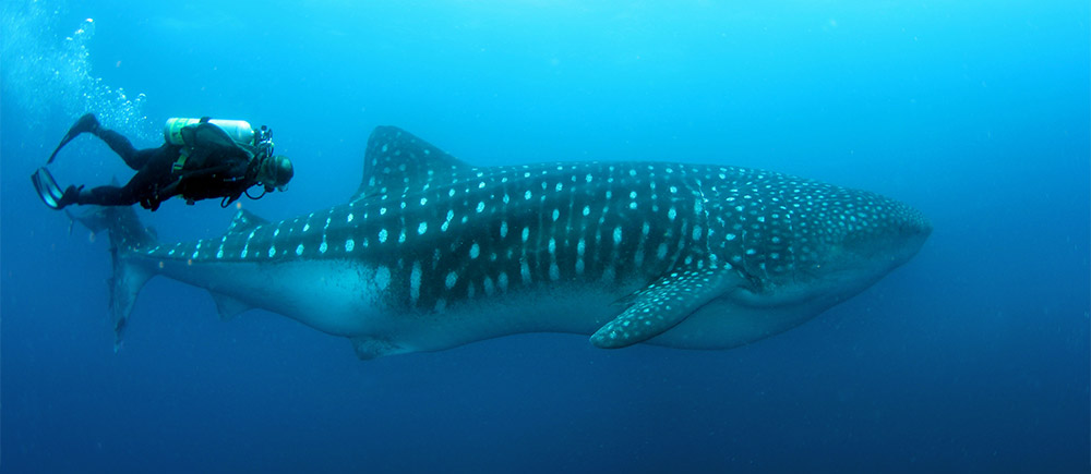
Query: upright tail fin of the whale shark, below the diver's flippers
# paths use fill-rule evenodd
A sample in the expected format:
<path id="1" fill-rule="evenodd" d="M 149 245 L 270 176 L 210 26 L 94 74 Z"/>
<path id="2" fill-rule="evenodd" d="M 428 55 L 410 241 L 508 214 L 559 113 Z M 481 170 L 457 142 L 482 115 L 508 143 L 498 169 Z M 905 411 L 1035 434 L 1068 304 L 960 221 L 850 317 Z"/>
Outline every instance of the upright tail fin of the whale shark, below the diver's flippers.
<path id="1" fill-rule="evenodd" d="M 121 347 L 129 315 L 132 313 L 136 294 L 153 276 L 155 268 L 132 258 L 135 251 L 156 245 L 155 233 L 144 227 L 131 206 L 91 207 L 80 214 L 69 212 L 92 232 L 106 230 L 110 236 L 110 256 L 113 260 L 113 276 L 110 278 L 110 317 L 117 336 L 115 350 Z"/>

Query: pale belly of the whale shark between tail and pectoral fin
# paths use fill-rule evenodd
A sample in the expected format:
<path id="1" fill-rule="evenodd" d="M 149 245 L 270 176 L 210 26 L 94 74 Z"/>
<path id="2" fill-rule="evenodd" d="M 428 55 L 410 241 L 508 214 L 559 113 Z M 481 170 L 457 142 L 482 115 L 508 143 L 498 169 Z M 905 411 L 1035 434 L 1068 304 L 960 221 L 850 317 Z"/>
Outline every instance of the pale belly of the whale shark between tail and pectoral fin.
<path id="1" fill-rule="evenodd" d="M 149 262 L 158 265 L 158 262 Z M 589 335 L 615 316 L 621 294 L 582 284 L 542 285 L 454 301 L 443 311 L 406 308 L 387 296 L 388 270 L 348 260 L 277 264 L 166 262 L 169 278 L 288 316 L 391 353 L 435 351 L 520 332 Z M 365 355 L 365 354 L 361 354 Z"/>

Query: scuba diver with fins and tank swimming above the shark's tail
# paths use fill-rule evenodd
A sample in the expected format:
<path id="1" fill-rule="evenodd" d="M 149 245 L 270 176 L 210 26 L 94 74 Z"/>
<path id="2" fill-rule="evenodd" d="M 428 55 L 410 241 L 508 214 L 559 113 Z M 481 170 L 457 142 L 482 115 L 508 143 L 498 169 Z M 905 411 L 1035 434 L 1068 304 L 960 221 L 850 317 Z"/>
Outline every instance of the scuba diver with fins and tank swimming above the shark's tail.
<path id="1" fill-rule="evenodd" d="M 207 117 L 170 119 L 163 146 L 137 150 L 123 135 L 101 126 L 95 114 L 87 113 L 76 120 L 46 165 L 53 161 L 61 147 L 85 132 L 105 142 L 136 174 L 124 186 L 84 190 L 83 185 L 72 185 L 62 192 L 49 171 L 39 168 L 31 181 L 50 208 L 140 203 L 154 211 L 171 196 L 182 196 L 187 204 L 218 197 L 220 206 L 227 207 L 242 194 L 257 199 L 274 190 L 284 191 L 293 174 L 287 157 L 273 155 L 272 131 L 267 127 L 255 131 L 244 121 Z M 256 197 L 248 192 L 254 185 L 264 186 Z"/>

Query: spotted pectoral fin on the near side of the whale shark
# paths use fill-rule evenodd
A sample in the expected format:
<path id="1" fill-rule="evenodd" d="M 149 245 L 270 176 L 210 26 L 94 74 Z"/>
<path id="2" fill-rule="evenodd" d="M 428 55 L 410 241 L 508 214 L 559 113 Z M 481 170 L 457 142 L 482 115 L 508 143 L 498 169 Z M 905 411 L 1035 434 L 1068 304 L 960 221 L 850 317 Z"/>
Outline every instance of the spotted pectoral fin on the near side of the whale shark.
<path id="1" fill-rule="evenodd" d="M 659 336 L 723 294 L 736 279 L 730 270 L 715 266 L 672 271 L 624 297 L 632 305 L 595 331 L 591 343 L 618 349 Z"/>

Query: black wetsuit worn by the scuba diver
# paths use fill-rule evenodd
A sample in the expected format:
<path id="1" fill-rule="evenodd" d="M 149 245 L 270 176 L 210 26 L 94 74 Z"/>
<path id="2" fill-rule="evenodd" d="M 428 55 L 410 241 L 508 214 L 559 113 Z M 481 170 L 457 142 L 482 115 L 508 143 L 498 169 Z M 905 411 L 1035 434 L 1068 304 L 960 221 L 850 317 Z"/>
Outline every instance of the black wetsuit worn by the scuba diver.
<path id="1" fill-rule="evenodd" d="M 95 135 L 129 168 L 136 170 L 136 175 L 124 186 L 98 186 L 81 192 L 76 204 L 128 206 L 140 203 L 155 210 L 159 203 L 181 195 L 189 204 L 218 197 L 226 206 L 257 184 L 259 160 L 254 159 L 253 147 L 239 145 L 209 123 L 183 129 L 185 145 L 165 143 L 158 148 L 141 150 L 112 130 L 99 130 Z M 183 150 L 187 158 L 176 167 Z"/>

